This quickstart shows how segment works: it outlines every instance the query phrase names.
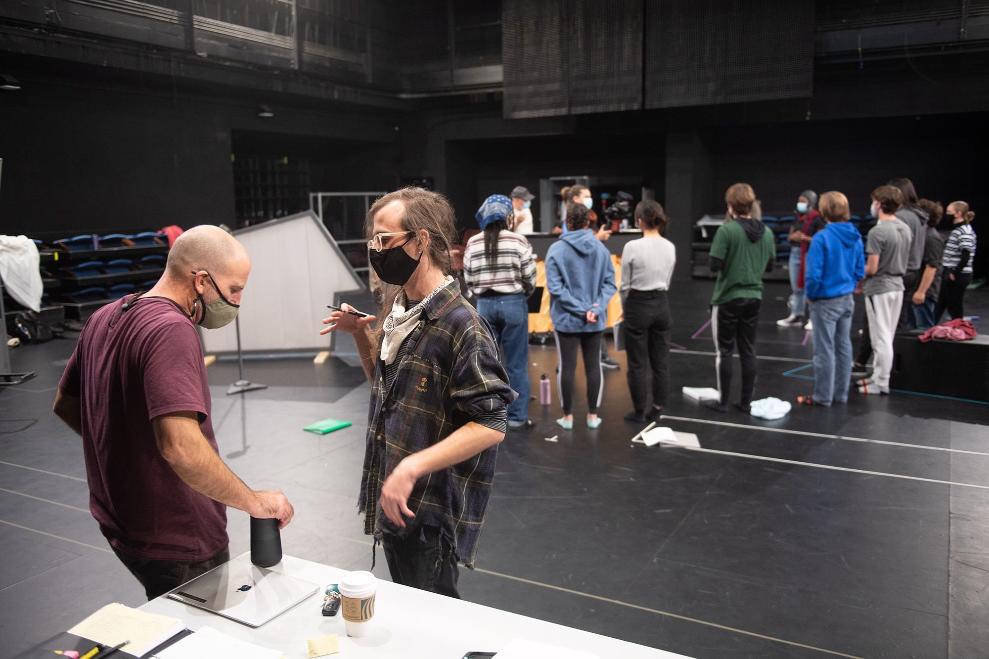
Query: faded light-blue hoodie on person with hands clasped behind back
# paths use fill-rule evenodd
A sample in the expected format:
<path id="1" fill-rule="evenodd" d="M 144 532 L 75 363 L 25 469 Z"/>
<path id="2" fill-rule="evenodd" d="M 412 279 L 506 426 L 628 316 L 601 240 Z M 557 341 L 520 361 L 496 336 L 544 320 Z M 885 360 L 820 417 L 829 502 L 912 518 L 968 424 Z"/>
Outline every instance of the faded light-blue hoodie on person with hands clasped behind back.
<path id="1" fill-rule="evenodd" d="M 561 235 L 546 250 L 546 287 L 553 329 L 604 329 L 608 302 L 618 290 L 611 252 L 589 229 Z M 596 323 L 587 323 L 588 311 L 597 314 Z"/>

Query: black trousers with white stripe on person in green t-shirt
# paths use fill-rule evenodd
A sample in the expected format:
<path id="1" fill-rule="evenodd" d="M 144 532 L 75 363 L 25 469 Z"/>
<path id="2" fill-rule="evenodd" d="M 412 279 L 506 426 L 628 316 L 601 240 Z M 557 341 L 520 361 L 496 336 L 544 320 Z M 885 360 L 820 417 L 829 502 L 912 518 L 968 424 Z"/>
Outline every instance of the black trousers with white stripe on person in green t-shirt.
<path id="1" fill-rule="evenodd" d="M 743 406 L 752 403 L 752 394 L 756 389 L 756 328 L 759 327 L 762 302 L 756 298 L 736 298 L 711 307 L 711 330 L 718 353 L 715 369 L 722 405 L 728 404 L 728 391 L 732 385 L 732 353 L 736 346 L 742 361 L 740 400 Z"/>

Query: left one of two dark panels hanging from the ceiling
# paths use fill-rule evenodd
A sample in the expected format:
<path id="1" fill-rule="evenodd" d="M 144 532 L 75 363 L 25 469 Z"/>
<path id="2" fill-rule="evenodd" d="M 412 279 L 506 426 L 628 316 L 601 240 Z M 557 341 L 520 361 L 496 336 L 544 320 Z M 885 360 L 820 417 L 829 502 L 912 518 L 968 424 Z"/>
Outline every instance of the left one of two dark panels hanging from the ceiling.
<path id="1" fill-rule="evenodd" d="M 506 119 L 642 107 L 642 0 L 505 0 Z"/>

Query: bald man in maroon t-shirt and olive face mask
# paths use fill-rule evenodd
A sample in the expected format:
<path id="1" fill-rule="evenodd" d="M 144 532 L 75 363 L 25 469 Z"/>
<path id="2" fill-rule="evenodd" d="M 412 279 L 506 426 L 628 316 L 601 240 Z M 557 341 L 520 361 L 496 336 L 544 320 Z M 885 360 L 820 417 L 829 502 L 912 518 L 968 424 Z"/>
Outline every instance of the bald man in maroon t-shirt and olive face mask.
<path id="1" fill-rule="evenodd" d="M 194 325 L 236 316 L 250 274 L 243 245 L 218 227 L 180 235 L 165 274 L 86 323 L 54 413 L 82 436 L 89 509 L 151 600 L 229 560 L 226 507 L 255 518 L 294 514 L 220 458 Z"/>

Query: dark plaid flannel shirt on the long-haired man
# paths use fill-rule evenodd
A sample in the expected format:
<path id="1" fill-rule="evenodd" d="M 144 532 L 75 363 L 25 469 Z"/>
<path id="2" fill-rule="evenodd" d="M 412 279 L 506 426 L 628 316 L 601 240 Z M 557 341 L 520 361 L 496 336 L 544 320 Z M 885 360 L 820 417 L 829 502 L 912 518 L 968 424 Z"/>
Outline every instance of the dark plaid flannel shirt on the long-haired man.
<path id="1" fill-rule="evenodd" d="M 364 473 L 357 506 L 364 532 L 405 536 L 421 524 L 438 526 L 456 545 L 457 558 L 474 567 L 478 537 L 488 511 L 497 446 L 460 464 L 423 476 L 412 488 L 405 528 L 385 517 L 379 499 L 385 479 L 406 455 L 445 439 L 475 415 L 515 400 L 498 361 L 487 321 L 454 283 L 425 306 L 409 334 L 395 382 L 384 391 L 384 362 L 375 366 Z"/>

